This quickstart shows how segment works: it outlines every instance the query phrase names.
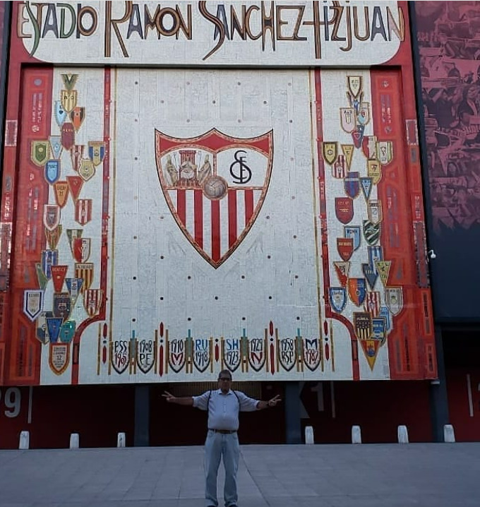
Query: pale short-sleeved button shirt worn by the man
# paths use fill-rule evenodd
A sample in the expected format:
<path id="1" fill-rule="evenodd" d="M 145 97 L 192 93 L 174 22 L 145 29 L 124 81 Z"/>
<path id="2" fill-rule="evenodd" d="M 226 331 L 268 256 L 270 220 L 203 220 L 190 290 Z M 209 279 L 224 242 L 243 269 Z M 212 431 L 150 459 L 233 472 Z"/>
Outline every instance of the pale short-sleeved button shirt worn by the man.
<path id="1" fill-rule="evenodd" d="M 209 400 L 210 397 L 210 400 Z M 239 429 L 239 411 L 257 410 L 258 400 L 248 398 L 245 393 L 232 389 L 223 394 L 221 389 L 205 391 L 200 396 L 193 396 L 193 406 L 208 410 L 208 429 Z"/>

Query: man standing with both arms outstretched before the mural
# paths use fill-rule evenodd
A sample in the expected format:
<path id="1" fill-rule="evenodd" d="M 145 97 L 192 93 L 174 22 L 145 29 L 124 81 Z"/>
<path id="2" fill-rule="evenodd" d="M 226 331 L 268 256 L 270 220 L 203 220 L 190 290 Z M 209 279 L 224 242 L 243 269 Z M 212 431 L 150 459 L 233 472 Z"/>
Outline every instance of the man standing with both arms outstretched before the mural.
<path id="1" fill-rule="evenodd" d="M 236 472 L 239 468 L 239 412 L 253 412 L 275 407 L 280 402 L 277 395 L 271 400 L 261 401 L 248 398 L 239 390 L 232 390 L 232 374 L 222 370 L 218 375 L 217 390 L 208 390 L 200 396 L 176 398 L 165 391 L 169 403 L 208 410 L 208 434 L 205 441 L 205 507 L 218 507 L 217 473 L 223 457 L 225 467 L 225 507 L 237 507 Z"/>

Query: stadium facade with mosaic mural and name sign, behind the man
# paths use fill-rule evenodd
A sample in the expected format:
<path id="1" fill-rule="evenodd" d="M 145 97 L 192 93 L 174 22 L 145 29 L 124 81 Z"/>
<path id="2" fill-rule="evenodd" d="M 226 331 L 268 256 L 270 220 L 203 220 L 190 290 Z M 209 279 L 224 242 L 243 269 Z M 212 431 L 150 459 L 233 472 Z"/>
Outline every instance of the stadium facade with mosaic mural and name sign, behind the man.
<path id="1" fill-rule="evenodd" d="M 454 419 L 478 439 L 479 367 L 445 359 L 478 305 L 443 297 L 478 270 L 445 270 L 470 231 L 434 201 L 421 90 L 452 80 L 420 73 L 439 29 L 419 5 L 2 4 L 1 448 L 201 443 L 205 414 L 160 395 L 222 369 L 284 400 L 244 443 L 432 441 Z"/>

